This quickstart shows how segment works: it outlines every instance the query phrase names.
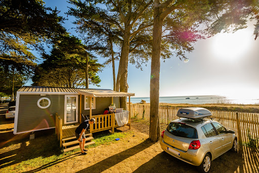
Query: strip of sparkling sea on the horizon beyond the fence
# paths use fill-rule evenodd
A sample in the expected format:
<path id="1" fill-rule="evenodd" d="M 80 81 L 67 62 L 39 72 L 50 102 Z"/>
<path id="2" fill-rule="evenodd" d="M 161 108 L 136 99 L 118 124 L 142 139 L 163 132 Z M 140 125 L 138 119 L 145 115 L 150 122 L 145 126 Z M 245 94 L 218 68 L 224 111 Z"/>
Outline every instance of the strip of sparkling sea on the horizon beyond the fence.
<path id="1" fill-rule="evenodd" d="M 141 100 L 150 102 L 149 97 L 131 97 L 132 103 L 139 103 Z M 128 97 L 127 97 L 128 101 Z M 189 103 L 193 105 L 201 105 L 206 103 L 229 103 L 229 104 L 259 104 L 259 99 L 244 99 L 244 98 L 230 98 L 227 96 L 220 95 L 194 95 L 194 96 L 170 96 L 170 97 L 159 97 L 159 102 L 164 103 Z"/>

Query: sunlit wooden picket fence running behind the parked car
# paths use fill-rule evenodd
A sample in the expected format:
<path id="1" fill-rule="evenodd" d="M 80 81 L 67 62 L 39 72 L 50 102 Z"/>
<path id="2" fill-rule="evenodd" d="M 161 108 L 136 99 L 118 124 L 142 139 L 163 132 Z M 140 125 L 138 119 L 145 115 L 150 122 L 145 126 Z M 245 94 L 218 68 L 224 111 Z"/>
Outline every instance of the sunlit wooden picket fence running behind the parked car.
<path id="1" fill-rule="evenodd" d="M 180 107 L 159 106 L 159 121 L 168 124 L 176 120 Z M 221 110 L 209 110 L 215 121 L 223 124 L 226 128 L 235 131 L 240 144 L 259 148 L 259 114 L 231 112 Z M 150 105 L 132 104 L 131 117 L 149 120 Z"/>

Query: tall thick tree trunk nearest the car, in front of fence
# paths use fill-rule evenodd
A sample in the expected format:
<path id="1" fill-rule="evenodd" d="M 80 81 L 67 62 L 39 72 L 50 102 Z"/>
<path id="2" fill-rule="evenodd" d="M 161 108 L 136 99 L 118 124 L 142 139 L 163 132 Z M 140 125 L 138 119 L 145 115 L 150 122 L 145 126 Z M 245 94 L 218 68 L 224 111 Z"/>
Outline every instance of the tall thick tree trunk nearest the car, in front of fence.
<path id="1" fill-rule="evenodd" d="M 160 136 L 159 124 L 159 72 L 160 72 L 160 52 L 163 19 L 160 18 L 159 8 L 154 7 L 154 27 L 153 27 L 153 45 L 151 59 L 150 76 L 150 126 L 149 138 L 151 141 L 158 141 Z"/>

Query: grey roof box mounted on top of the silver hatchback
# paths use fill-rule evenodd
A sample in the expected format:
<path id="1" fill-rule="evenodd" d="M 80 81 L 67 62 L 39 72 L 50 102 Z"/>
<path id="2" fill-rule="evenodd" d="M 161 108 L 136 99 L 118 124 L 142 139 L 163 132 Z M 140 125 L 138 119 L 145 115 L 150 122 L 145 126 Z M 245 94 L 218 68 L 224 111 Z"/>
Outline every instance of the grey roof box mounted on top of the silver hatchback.
<path id="1" fill-rule="evenodd" d="M 177 112 L 178 117 L 191 119 L 209 117 L 211 115 L 211 112 L 204 108 L 183 108 Z"/>

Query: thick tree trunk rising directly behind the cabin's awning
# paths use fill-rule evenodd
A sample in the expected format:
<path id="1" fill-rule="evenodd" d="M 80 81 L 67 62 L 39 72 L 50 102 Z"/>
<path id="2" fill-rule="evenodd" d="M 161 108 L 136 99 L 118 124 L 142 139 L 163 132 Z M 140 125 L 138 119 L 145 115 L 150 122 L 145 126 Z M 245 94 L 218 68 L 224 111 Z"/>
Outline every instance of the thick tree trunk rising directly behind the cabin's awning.
<path id="1" fill-rule="evenodd" d="M 128 52 L 130 50 L 130 29 L 125 28 L 123 35 L 123 44 L 121 49 L 121 68 L 120 68 L 120 91 L 127 92 L 127 65 L 128 65 Z M 127 110 L 126 97 L 120 97 L 120 108 Z"/>

